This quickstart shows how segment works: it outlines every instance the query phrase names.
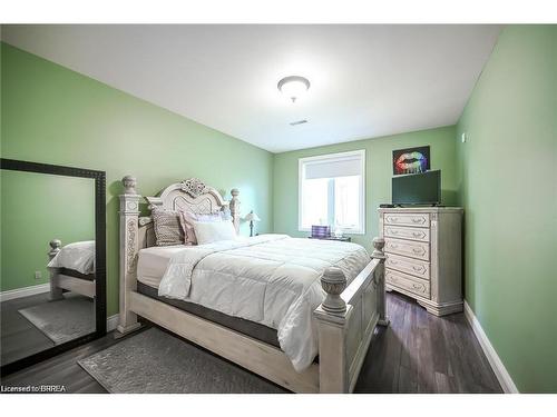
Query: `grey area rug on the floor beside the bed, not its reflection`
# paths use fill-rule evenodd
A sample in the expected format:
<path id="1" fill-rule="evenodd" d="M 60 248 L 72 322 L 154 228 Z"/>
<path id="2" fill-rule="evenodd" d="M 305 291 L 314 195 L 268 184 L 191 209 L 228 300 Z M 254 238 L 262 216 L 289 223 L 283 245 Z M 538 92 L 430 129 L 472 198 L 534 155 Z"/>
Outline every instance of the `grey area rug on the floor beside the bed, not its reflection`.
<path id="1" fill-rule="evenodd" d="M 150 328 L 78 364 L 114 394 L 275 394 L 283 389 Z"/>

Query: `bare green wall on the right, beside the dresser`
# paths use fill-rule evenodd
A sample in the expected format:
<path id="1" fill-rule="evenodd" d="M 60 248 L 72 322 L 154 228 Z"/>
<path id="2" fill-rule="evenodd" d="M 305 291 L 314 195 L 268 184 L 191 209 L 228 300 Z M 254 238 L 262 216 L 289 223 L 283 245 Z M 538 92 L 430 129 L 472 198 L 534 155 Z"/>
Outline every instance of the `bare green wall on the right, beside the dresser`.
<path id="1" fill-rule="evenodd" d="M 556 26 L 502 30 L 457 130 L 466 299 L 518 389 L 555 393 Z"/>

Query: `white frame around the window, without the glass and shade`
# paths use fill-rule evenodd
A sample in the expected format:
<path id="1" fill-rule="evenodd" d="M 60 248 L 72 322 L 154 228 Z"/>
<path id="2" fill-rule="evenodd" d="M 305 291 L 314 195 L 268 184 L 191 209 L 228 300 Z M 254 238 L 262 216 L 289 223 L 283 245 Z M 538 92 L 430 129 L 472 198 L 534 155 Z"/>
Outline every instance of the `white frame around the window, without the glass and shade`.
<path id="1" fill-rule="evenodd" d="M 303 189 L 303 167 L 311 161 L 326 161 L 350 156 L 360 157 L 361 182 L 360 182 L 360 229 L 342 229 L 344 235 L 365 235 L 365 149 L 350 150 L 346 152 L 324 153 L 313 157 L 299 158 L 297 160 L 297 230 L 311 231 L 311 228 L 302 227 L 302 189 Z M 332 231 L 332 230 L 331 230 Z"/>

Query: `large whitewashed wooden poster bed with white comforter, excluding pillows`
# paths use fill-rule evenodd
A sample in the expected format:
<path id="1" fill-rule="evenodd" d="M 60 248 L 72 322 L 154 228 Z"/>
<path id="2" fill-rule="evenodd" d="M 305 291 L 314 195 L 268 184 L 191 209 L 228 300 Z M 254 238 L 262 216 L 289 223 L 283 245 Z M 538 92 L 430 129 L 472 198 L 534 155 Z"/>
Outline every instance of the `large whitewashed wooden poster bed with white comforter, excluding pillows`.
<path id="1" fill-rule="evenodd" d="M 350 393 L 378 325 L 387 325 L 383 240 L 355 244 L 285 235 L 156 247 L 136 180 L 120 196 L 119 334 L 141 316 L 295 393 Z M 192 189 L 190 185 L 199 185 Z M 198 180 L 173 183 L 149 209 L 228 211 Z"/>

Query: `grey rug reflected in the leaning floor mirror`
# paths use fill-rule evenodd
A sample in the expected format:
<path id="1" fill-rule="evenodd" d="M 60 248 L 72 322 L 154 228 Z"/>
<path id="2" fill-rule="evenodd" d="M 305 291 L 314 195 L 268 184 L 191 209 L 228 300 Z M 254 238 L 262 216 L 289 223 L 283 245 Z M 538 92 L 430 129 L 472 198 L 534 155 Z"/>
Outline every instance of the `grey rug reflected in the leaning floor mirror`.
<path id="1" fill-rule="evenodd" d="M 18 310 L 55 345 L 95 331 L 95 304 L 79 295 L 66 295 L 63 300 L 43 302 Z"/>

